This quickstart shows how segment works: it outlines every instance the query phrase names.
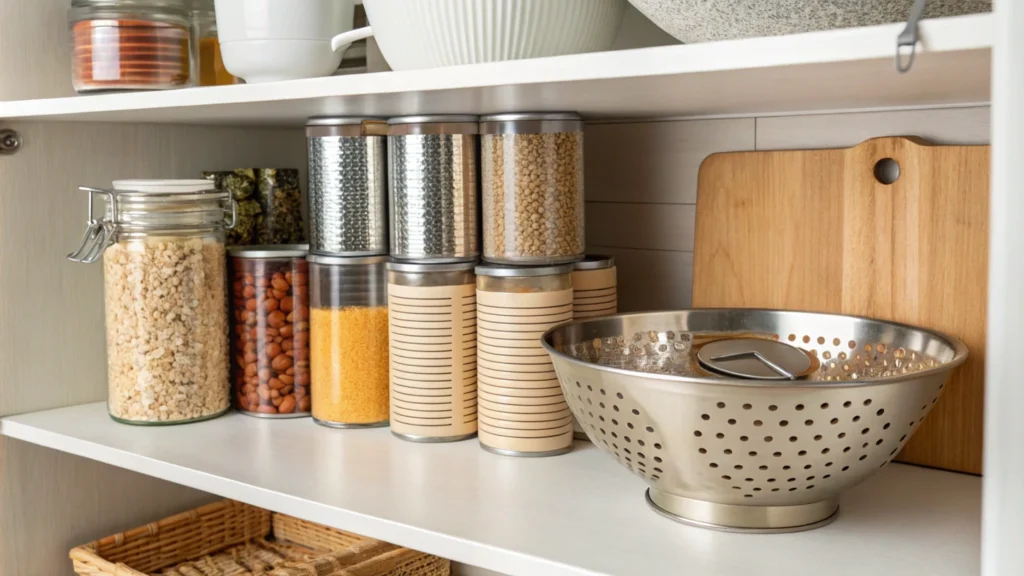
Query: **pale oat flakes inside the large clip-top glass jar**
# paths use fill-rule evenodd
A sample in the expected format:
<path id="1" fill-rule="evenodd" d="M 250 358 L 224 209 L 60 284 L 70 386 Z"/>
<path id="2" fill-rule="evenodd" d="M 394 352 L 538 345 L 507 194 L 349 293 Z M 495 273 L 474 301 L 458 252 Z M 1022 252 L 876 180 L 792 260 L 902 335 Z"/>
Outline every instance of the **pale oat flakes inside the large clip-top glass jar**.
<path id="1" fill-rule="evenodd" d="M 146 238 L 103 255 L 111 414 L 205 418 L 228 407 L 223 244 Z"/>

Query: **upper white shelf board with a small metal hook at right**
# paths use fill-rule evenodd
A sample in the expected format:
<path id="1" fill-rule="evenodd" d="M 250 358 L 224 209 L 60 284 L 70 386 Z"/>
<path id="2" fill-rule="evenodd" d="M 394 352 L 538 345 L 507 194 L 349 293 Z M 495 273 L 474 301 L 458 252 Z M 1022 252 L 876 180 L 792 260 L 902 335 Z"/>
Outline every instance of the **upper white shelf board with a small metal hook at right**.
<path id="1" fill-rule="evenodd" d="M 989 99 L 991 14 L 434 70 L 0 102 L 0 119 L 300 126 L 310 116 L 579 111 L 589 119 L 766 115 Z"/>

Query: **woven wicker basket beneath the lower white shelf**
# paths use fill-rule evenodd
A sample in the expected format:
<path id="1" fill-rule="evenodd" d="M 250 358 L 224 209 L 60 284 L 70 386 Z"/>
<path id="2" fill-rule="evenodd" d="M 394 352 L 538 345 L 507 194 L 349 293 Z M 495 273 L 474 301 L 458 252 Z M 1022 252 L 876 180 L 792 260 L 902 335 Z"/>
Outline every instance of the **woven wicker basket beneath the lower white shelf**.
<path id="1" fill-rule="evenodd" d="M 110 576 L 449 576 L 444 559 L 221 500 L 71 550 Z"/>

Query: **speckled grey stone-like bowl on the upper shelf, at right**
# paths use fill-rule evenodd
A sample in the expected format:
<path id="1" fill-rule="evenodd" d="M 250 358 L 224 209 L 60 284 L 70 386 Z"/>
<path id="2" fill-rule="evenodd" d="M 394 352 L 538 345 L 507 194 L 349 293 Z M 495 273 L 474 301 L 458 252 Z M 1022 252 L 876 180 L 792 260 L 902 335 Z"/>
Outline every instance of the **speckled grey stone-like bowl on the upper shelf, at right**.
<path id="1" fill-rule="evenodd" d="M 901 22 L 913 0 L 630 0 L 682 42 L 781 36 Z M 988 12 L 992 0 L 929 0 L 925 17 Z"/>

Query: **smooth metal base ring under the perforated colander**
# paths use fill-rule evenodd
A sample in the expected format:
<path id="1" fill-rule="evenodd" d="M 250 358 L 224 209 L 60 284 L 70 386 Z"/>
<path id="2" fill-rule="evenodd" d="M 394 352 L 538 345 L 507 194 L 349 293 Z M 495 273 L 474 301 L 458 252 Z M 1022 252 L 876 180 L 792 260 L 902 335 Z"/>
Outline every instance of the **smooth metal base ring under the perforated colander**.
<path id="1" fill-rule="evenodd" d="M 796 506 L 739 506 L 674 496 L 648 488 L 647 505 L 681 524 L 744 534 L 803 532 L 839 517 L 839 498 Z"/>

